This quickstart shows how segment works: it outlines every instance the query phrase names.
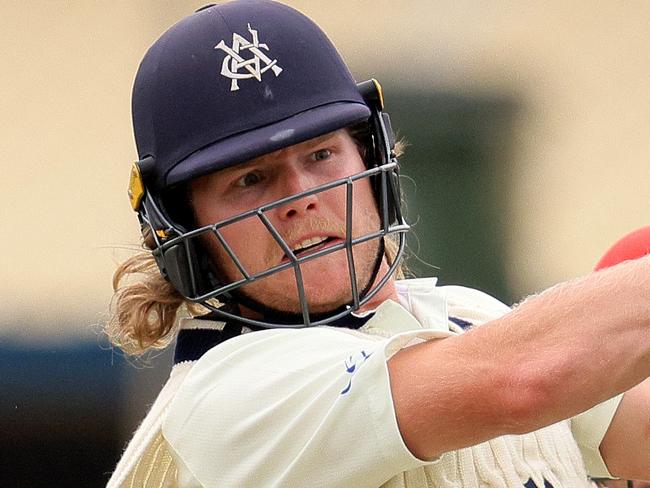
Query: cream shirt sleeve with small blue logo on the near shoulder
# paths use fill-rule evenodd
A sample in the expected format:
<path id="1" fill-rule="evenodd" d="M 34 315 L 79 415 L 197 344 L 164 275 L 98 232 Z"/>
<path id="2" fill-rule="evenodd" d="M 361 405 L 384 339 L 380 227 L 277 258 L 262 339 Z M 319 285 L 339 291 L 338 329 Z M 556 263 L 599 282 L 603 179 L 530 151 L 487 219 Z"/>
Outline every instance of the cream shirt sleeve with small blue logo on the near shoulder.
<path id="1" fill-rule="evenodd" d="M 195 364 L 163 424 L 179 479 L 204 487 L 305 480 L 377 487 L 428 464 L 402 440 L 386 361 L 414 338 L 445 336 L 275 329 L 215 347 Z"/>

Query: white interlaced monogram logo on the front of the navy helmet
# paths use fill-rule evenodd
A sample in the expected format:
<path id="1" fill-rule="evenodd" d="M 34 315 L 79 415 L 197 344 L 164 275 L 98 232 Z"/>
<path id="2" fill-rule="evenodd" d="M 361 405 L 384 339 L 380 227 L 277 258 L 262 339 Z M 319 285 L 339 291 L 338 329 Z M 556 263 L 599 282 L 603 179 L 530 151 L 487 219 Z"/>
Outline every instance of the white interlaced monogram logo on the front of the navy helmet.
<path id="1" fill-rule="evenodd" d="M 282 68 L 278 66 L 277 59 L 271 59 L 262 52 L 262 49 L 268 51 L 269 47 L 259 42 L 257 31 L 252 29 L 250 24 L 248 24 L 248 32 L 253 37 L 252 41 L 233 33 L 232 47 L 228 46 L 223 40 L 214 46 L 215 49 L 221 49 L 227 54 L 221 65 L 221 74 L 232 80 L 230 91 L 239 90 L 237 80 L 255 78 L 257 81 L 262 81 L 262 75 L 268 70 L 273 71 L 276 77 L 282 73 Z M 242 51 L 250 52 L 253 57 L 244 59 L 241 56 Z M 239 72 L 239 70 L 243 70 L 243 72 Z"/>

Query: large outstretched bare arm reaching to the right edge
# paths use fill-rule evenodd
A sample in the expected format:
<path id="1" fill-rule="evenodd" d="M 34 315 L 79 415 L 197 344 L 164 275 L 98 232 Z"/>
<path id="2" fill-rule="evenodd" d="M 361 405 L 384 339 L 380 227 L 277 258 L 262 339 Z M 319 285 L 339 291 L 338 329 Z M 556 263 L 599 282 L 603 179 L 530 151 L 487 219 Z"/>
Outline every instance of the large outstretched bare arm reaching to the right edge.
<path id="1" fill-rule="evenodd" d="M 418 457 L 572 417 L 650 375 L 650 257 L 553 287 L 470 332 L 389 361 Z"/>

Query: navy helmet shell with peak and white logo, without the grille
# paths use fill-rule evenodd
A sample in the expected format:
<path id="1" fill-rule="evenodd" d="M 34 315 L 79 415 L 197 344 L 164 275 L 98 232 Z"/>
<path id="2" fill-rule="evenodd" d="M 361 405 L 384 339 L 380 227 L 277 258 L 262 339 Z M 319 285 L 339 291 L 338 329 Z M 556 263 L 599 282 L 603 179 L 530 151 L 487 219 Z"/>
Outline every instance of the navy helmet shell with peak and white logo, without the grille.
<path id="1" fill-rule="evenodd" d="M 175 24 L 136 75 L 143 174 L 161 190 L 368 119 L 325 33 L 277 2 L 235 0 Z"/>

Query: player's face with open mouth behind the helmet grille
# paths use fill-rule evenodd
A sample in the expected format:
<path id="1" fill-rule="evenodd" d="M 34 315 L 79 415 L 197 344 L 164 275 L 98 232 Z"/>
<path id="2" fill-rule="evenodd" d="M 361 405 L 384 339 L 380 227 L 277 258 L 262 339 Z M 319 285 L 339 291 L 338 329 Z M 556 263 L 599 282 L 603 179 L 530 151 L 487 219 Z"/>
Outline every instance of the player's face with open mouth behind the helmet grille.
<path id="1" fill-rule="evenodd" d="M 198 225 L 211 225 L 364 170 L 359 147 L 342 129 L 198 178 L 190 185 L 191 202 Z M 355 238 L 378 230 L 379 216 L 367 178 L 354 183 L 353 195 Z M 265 215 L 297 257 L 340 244 L 346 231 L 345 185 L 287 203 Z M 257 217 L 227 225 L 221 229 L 221 235 L 250 274 L 288 262 L 280 245 Z M 225 283 L 242 278 L 215 236 L 206 235 L 205 245 Z M 353 247 L 360 291 L 372 277 L 378 246 L 373 239 Z M 326 312 L 351 300 L 345 249 L 303 263 L 301 271 L 311 312 Z M 246 284 L 240 290 L 274 309 L 300 310 L 291 268 Z"/>

